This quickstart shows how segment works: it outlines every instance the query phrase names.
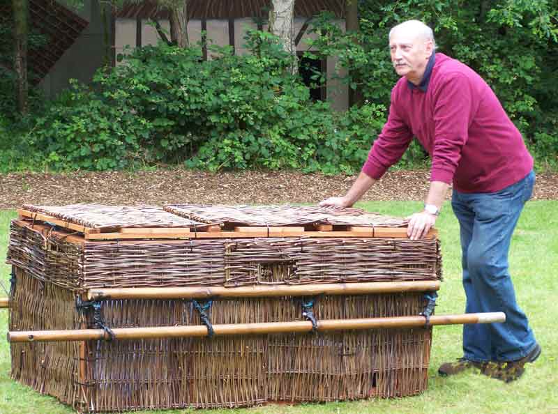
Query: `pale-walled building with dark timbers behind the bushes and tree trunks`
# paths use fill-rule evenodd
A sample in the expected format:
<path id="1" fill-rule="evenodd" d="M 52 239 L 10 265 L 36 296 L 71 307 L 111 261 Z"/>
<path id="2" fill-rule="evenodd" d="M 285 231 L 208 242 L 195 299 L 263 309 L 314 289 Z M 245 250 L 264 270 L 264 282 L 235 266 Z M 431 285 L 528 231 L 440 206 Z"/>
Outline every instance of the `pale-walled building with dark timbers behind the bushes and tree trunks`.
<path id="1" fill-rule="evenodd" d="M 243 45 L 246 30 L 250 27 L 267 29 L 265 22 L 270 1 L 188 0 L 190 43 L 202 40 L 202 31 L 204 31 L 208 43 L 221 46 L 232 45 L 235 53 L 246 53 Z M 80 33 L 72 31 L 74 42 L 69 44 L 66 42 L 66 50 L 58 56 L 55 63 L 50 65 L 47 72 L 43 70 L 40 86 L 45 91 L 45 95 L 50 97 L 68 86 L 70 78 L 88 83 L 94 72 L 105 62 L 117 64 L 116 55 L 122 53 L 127 45 L 141 47 L 156 44 L 159 36 L 151 24 L 151 18 L 158 20 L 163 28 L 167 30 L 169 28 L 167 11 L 158 8 L 156 3 L 151 1 L 113 10 L 98 0 L 84 0 L 82 8 L 70 11 L 61 4 L 47 0 L 30 0 L 31 14 L 35 15 L 32 24 L 33 20 L 38 24 L 40 17 L 46 15 L 43 9 L 48 8 L 49 4 L 54 10 L 49 14 L 53 22 L 52 27 L 59 33 L 65 33 L 64 28 L 68 31 L 64 21 L 70 17 L 82 23 Z M 345 2 L 343 0 L 296 0 L 294 33 L 296 33 L 296 49 L 299 56 L 308 49 L 306 40 L 309 36 L 307 29 L 310 18 L 322 10 L 333 12 L 338 17 L 338 24 L 344 28 Z M 52 30 L 50 38 L 56 40 L 60 36 L 56 36 L 56 32 L 53 34 Z M 211 59 L 211 54 L 207 55 L 207 59 Z M 324 61 L 307 59 L 304 66 L 313 66 L 327 74 L 326 86 L 312 90 L 312 97 L 329 100 L 335 109 L 343 110 L 348 106 L 348 90 L 346 85 L 332 78 L 336 61 L 335 58 Z M 36 59 L 31 64 L 33 68 L 38 67 L 40 59 Z M 301 75 L 307 76 L 304 70 L 301 70 Z"/>

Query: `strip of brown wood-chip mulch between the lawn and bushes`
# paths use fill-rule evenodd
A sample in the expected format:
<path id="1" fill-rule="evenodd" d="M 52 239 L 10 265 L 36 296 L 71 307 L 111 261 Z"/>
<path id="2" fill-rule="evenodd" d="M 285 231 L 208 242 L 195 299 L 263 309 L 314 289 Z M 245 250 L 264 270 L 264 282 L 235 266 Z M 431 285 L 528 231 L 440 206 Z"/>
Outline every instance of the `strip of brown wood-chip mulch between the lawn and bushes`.
<path id="1" fill-rule="evenodd" d="M 423 200 L 429 171 L 390 171 L 363 200 Z M 355 176 L 291 171 L 210 173 L 183 169 L 0 175 L 0 209 L 22 204 L 314 204 L 345 194 Z M 558 174 L 537 176 L 534 199 L 558 199 Z"/>

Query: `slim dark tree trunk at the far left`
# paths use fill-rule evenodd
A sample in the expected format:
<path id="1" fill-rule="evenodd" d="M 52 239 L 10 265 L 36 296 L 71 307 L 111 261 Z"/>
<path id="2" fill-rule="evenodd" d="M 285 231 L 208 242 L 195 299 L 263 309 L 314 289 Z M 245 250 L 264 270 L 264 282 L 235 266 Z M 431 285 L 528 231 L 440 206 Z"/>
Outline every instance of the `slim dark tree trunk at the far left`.
<path id="1" fill-rule="evenodd" d="M 16 100 L 17 109 L 21 114 L 27 114 L 27 34 L 28 29 L 28 0 L 13 0 L 14 17 L 14 70 L 17 74 Z"/>

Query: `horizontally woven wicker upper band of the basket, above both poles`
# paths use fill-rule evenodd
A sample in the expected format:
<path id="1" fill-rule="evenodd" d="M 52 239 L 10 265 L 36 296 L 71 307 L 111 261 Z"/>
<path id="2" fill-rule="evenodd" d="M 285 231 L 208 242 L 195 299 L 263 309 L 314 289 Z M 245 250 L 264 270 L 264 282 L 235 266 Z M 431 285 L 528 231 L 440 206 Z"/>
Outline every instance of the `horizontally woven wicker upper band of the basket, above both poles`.
<path id="1" fill-rule="evenodd" d="M 257 238 L 70 243 L 14 222 L 8 263 L 67 289 L 429 280 L 439 242 Z"/>

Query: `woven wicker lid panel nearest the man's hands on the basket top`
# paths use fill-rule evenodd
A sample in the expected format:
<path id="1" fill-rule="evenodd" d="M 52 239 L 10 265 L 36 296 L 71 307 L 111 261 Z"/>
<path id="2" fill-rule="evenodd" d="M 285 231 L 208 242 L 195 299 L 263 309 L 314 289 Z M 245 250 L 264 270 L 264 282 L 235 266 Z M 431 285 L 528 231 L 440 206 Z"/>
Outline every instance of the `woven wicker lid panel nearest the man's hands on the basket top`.
<path id="1" fill-rule="evenodd" d="M 243 224 L 246 226 L 293 226 L 336 224 L 362 227 L 405 227 L 408 220 L 359 208 L 319 206 L 225 206 L 182 204 L 164 207 L 190 220 L 204 223 Z"/>

